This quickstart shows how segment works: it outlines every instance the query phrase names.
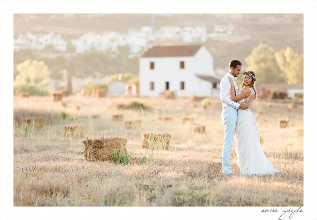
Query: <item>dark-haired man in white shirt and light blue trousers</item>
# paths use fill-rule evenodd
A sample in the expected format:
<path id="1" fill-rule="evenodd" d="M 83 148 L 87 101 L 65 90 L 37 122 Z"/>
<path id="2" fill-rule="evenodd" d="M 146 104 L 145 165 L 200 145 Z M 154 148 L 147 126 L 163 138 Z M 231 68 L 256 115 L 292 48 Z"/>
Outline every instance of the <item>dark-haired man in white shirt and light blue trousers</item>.
<path id="1" fill-rule="evenodd" d="M 222 103 L 221 120 L 224 125 L 224 143 L 222 150 L 222 172 L 227 175 L 233 175 L 230 166 L 230 151 L 233 147 L 236 123 L 238 117 L 238 108 L 247 110 L 248 105 L 245 102 L 241 104 L 232 101 L 230 95 L 230 82 L 228 77 L 231 77 L 235 84 L 236 95 L 238 87 L 236 78 L 241 73 L 242 64 L 238 60 L 231 60 L 229 63 L 229 72 L 220 81 L 220 99 Z"/>

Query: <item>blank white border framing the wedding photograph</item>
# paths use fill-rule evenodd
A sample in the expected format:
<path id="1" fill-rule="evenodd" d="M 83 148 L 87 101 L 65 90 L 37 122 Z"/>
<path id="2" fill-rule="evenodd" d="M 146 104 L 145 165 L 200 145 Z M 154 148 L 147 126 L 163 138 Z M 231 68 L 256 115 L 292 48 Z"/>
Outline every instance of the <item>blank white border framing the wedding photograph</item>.
<path id="1" fill-rule="evenodd" d="M 316 219 L 317 1 L 3 1 L 0 5 L 1 219 L 278 219 L 299 207 L 14 207 L 13 14 L 304 14 L 304 207 L 290 219 Z M 7 95 L 12 94 L 12 95 Z M 12 146 L 12 147 L 10 147 Z M 7 164 L 12 165 L 11 167 Z M 312 196 L 314 195 L 314 196 Z M 261 213 L 277 209 L 278 213 Z M 117 213 L 120 212 L 120 218 Z M 92 213 L 94 215 L 92 216 Z M 155 213 L 155 215 L 153 215 Z M 288 215 L 289 217 L 289 215 Z M 284 219 L 288 219 L 285 217 Z M 281 219 L 281 218 L 280 218 Z"/>

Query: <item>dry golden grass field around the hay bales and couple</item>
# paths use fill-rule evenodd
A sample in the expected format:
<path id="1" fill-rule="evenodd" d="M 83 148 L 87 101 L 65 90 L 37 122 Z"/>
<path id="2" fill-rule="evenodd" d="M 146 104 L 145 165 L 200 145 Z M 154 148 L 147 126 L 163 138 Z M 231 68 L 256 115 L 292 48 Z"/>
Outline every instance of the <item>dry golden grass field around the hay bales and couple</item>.
<path id="1" fill-rule="evenodd" d="M 137 100 L 144 109 L 118 109 Z M 221 173 L 221 103 L 206 109 L 189 98 L 14 97 L 14 206 L 303 206 L 303 105 L 255 100 L 262 149 L 281 172 L 239 174 L 234 149 L 233 177 Z M 122 114 L 122 121 L 113 115 Z M 43 124 L 26 124 L 37 117 Z M 170 120 L 162 120 L 162 118 Z M 182 117 L 205 126 L 194 132 Z M 158 120 L 161 119 L 161 120 Z M 280 128 L 279 120 L 288 120 Z M 124 121 L 140 120 L 126 127 Z M 65 126 L 83 126 L 65 135 Z M 168 149 L 142 148 L 145 132 L 171 135 Z M 121 137 L 131 163 L 88 161 L 83 140 Z M 143 158 L 143 160 L 142 160 Z"/>

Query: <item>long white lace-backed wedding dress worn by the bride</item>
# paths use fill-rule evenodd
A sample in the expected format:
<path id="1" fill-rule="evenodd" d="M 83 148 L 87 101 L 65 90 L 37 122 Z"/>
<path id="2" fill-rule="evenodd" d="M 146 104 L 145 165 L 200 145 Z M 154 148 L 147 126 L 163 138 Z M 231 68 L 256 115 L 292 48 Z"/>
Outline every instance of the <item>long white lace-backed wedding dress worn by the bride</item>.
<path id="1" fill-rule="evenodd" d="M 249 104 L 248 110 L 238 109 L 236 125 L 236 155 L 237 165 L 241 174 L 262 175 L 280 172 L 273 167 L 265 156 L 260 145 L 260 134 L 256 124 L 256 117 L 251 112 L 255 92 L 250 89 L 250 96 L 239 100 L 239 103 L 246 101 Z"/>

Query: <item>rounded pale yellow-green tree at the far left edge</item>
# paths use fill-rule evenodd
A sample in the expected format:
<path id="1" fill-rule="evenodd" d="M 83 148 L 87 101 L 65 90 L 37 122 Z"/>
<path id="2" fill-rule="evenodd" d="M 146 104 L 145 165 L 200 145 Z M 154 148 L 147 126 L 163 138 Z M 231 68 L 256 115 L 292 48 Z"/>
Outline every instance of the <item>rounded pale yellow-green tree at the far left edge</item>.
<path id="1" fill-rule="evenodd" d="M 16 83 L 21 85 L 35 85 L 49 90 L 50 71 L 44 61 L 26 60 L 16 66 L 19 74 Z"/>

